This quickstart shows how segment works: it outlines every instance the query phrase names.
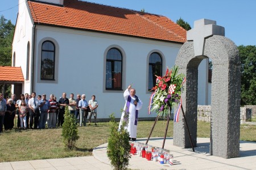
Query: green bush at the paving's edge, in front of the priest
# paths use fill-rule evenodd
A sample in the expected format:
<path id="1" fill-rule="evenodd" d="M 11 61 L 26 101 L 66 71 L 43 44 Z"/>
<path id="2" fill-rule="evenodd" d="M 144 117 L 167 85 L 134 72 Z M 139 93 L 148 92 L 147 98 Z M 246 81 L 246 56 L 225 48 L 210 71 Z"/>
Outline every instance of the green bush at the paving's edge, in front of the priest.
<path id="1" fill-rule="evenodd" d="M 118 124 L 115 122 L 114 114 L 112 113 L 109 117 L 111 121 L 107 155 L 114 169 L 127 169 L 131 155 L 129 133 L 124 129 L 126 121 L 123 121 L 121 130 L 118 130 Z"/>

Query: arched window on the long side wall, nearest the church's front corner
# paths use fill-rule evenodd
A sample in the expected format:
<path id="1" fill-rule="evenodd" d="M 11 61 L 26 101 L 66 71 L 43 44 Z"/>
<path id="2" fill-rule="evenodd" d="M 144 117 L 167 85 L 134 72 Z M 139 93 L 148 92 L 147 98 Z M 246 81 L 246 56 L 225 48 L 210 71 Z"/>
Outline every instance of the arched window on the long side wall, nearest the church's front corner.
<path id="1" fill-rule="evenodd" d="M 41 79 L 55 80 L 55 45 L 51 41 L 42 44 Z"/>

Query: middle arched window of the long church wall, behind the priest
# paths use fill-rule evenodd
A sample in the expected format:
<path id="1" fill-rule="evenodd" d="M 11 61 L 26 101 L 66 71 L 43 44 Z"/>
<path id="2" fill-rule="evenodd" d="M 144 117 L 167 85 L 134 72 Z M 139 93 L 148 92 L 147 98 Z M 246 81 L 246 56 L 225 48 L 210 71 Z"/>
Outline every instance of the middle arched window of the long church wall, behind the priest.
<path id="1" fill-rule="evenodd" d="M 106 90 L 122 90 L 122 54 L 116 48 L 106 56 Z"/>

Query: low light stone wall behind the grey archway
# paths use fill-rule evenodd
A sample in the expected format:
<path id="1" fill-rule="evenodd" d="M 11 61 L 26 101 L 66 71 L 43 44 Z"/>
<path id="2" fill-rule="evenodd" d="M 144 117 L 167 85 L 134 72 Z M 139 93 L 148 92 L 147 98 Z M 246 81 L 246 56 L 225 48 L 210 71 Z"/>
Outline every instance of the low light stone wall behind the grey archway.
<path id="1" fill-rule="evenodd" d="M 253 115 L 253 109 L 255 111 L 256 106 L 240 107 L 240 120 L 241 123 L 251 121 Z M 210 105 L 197 105 L 197 120 L 210 122 L 210 114 L 212 113 Z M 254 113 L 255 115 L 255 113 Z"/>

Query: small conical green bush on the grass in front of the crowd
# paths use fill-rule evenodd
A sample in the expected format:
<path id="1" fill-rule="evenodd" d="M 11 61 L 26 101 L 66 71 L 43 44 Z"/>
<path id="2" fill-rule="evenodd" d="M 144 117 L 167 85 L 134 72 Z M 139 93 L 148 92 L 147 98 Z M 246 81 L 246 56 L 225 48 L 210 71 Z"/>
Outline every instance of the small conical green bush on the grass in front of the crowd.
<path id="1" fill-rule="evenodd" d="M 75 148 L 76 140 L 79 139 L 76 126 L 76 119 L 73 114 L 70 114 L 68 107 L 65 107 L 65 121 L 63 123 L 62 136 L 63 143 L 67 150 Z"/>

